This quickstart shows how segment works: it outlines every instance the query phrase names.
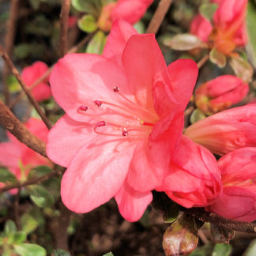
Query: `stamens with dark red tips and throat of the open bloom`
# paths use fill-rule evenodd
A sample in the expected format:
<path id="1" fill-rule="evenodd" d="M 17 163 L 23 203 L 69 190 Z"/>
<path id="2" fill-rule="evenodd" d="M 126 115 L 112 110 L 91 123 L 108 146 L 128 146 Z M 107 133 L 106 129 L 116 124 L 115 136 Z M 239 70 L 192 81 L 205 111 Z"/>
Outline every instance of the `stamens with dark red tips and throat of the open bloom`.
<path id="1" fill-rule="evenodd" d="M 156 112 L 128 99 L 119 87 L 114 87 L 113 92 L 118 96 L 118 104 L 93 100 L 78 107 L 77 113 L 96 121 L 93 129 L 96 134 L 133 138 L 149 136 L 158 120 Z"/>

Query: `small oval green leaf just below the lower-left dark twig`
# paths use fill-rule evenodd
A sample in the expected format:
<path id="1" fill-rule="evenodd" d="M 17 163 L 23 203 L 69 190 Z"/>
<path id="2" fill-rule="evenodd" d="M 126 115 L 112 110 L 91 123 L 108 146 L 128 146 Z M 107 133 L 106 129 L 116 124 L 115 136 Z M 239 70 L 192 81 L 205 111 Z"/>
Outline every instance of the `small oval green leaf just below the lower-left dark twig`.
<path id="1" fill-rule="evenodd" d="M 28 186 L 28 193 L 32 201 L 39 207 L 51 207 L 55 203 L 53 196 L 43 186 Z"/>

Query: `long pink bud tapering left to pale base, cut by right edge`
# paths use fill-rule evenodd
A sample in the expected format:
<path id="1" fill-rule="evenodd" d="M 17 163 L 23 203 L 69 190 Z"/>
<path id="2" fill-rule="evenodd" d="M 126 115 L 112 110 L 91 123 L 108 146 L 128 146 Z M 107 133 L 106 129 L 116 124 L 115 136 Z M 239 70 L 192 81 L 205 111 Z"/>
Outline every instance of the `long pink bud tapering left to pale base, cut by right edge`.
<path id="1" fill-rule="evenodd" d="M 233 107 L 189 126 L 185 135 L 217 155 L 256 147 L 256 104 Z"/>

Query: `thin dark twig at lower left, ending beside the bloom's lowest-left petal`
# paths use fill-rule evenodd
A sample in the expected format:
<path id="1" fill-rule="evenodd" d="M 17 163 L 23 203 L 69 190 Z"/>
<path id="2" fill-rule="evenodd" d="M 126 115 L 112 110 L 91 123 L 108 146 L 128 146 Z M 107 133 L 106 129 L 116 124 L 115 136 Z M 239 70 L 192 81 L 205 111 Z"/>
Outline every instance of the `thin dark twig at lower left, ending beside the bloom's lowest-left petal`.
<path id="1" fill-rule="evenodd" d="M 17 182 L 17 183 L 3 186 L 2 188 L 0 188 L 0 193 L 8 191 L 8 190 L 13 190 L 15 188 L 21 188 L 22 186 L 43 183 L 47 179 L 50 179 L 51 177 L 55 177 L 57 175 L 62 175 L 62 171 L 61 170 L 51 171 L 51 172 L 47 173 L 46 175 L 28 179 L 28 180 L 24 181 L 23 183 Z"/>

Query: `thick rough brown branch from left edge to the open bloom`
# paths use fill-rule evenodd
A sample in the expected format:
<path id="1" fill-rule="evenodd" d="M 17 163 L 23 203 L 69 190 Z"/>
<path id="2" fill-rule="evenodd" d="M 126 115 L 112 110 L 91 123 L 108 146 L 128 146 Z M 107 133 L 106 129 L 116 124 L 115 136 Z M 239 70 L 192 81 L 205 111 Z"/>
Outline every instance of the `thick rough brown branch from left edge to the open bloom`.
<path id="1" fill-rule="evenodd" d="M 19 141 L 30 149 L 46 156 L 45 143 L 32 134 L 22 122 L 0 101 L 0 125 L 9 130 Z"/>

